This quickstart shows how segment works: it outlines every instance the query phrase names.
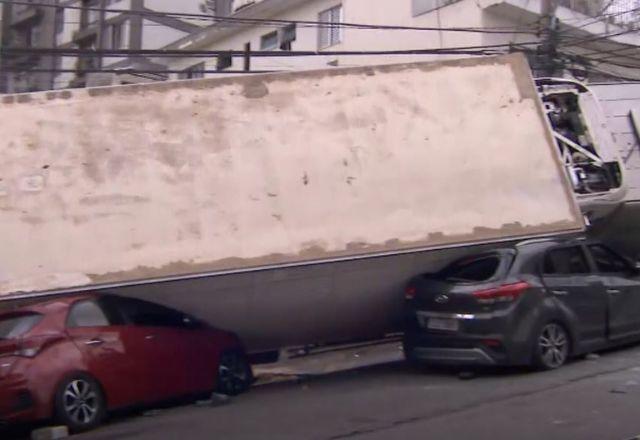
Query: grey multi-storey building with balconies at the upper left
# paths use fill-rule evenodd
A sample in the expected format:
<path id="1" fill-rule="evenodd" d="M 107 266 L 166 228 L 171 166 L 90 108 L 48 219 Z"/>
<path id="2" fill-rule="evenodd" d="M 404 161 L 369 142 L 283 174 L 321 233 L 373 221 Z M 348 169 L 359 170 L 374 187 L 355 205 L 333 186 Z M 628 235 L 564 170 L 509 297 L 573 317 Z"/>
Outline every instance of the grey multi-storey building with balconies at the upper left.
<path id="1" fill-rule="evenodd" d="M 2 46 L 40 49 L 4 54 L 1 85 L 20 93 L 103 82 L 96 71 L 153 70 L 143 56 L 56 56 L 47 49 L 158 49 L 198 30 L 202 23 L 164 15 L 200 13 L 202 0 L 24 0 L 4 3 Z M 113 12 L 111 12 L 113 11 Z M 161 67 L 161 66 L 160 66 Z M 154 75 L 137 80 L 157 79 Z"/>

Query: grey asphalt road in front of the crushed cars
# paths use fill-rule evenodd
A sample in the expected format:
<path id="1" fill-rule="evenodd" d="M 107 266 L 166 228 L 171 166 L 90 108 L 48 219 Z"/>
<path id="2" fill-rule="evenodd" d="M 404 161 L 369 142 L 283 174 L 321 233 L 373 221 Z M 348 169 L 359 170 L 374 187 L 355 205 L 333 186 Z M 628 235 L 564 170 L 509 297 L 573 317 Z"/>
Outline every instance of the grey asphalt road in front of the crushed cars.
<path id="1" fill-rule="evenodd" d="M 552 372 L 483 370 L 471 379 L 396 362 L 152 414 L 72 438 L 625 440 L 640 435 L 640 346 Z"/>

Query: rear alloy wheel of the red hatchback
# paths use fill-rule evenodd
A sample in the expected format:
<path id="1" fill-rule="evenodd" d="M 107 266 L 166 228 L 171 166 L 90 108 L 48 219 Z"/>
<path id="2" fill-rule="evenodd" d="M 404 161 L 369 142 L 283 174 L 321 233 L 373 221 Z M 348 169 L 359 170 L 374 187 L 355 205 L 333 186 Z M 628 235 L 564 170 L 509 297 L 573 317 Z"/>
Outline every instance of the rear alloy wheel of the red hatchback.
<path id="1" fill-rule="evenodd" d="M 72 432 L 95 428 L 104 420 L 106 410 L 102 388 L 87 374 L 70 376 L 58 387 L 55 396 L 56 419 Z"/>

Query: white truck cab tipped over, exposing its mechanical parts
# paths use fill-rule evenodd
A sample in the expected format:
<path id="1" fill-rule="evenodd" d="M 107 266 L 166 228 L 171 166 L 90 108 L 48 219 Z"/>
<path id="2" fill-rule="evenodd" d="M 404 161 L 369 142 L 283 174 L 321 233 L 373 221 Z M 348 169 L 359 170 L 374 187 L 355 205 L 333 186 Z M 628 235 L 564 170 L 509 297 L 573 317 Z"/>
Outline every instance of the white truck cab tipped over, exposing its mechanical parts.
<path id="1" fill-rule="evenodd" d="M 584 84 L 539 78 L 544 104 L 562 164 L 580 208 L 589 221 L 609 215 L 624 202 L 624 167 L 606 117 Z"/>

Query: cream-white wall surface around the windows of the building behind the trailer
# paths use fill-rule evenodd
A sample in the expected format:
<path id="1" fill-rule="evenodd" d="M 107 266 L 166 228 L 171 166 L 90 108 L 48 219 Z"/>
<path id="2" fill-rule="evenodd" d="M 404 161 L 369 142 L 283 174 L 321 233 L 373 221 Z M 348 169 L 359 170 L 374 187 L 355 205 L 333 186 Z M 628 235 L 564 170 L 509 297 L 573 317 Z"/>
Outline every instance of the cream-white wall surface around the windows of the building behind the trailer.
<path id="1" fill-rule="evenodd" d="M 268 1 L 268 0 L 267 0 Z M 499 27 L 514 26 L 514 22 L 501 18 L 483 9 L 490 0 L 461 0 L 445 6 L 437 11 L 414 16 L 412 0 L 310 0 L 301 6 L 291 8 L 282 14 L 272 17 L 291 21 L 317 21 L 320 12 L 331 7 L 343 6 L 343 21 L 366 23 L 373 25 L 398 25 L 417 27 Z M 208 45 L 185 44 L 177 46 L 188 49 L 209 50 L 243 50 L 245 43 L 250 42 L 252 50 L 260 49 L 260 37 L 275 28 L 273 26 L 253 26 L 242 29 L 234 35 L 225 37 Z M 293 50 L 318 50 L 318 33 L 316 27 L 298 27 L 297 39 Z M 510 42 L 530 41 L 531 35 L 522 34 L 480 34 L 463 32 L 438 32 L 423 30 L 370 30 L 343 29 L 341 44 L 326 48 L 326 51 L 371 51 L 371 50 L 407 50 L 437 49 L 441 47 L 464 47 L 485 44 L 503 44 Z M 426 55 L 372 55 L 372 56 L 315 56 L 315 57 L 282 57 L 253 58 L 252 70 L 299 70 L 337 66 L 361 66 L 410 61 L 427 61 L 442 59 L 442 56 Z M 162 60 L 156 60 L 162 62 Z M 212 58 L 174 58 L 165 60 L 171 69 L 183 69 L 201 61 L 206 62 L 207 70 L 215 70 L 216 60 Z M 232 69 L 242 68 L 242 59 L 234 59 Z"/>

